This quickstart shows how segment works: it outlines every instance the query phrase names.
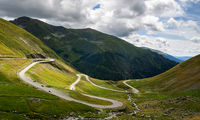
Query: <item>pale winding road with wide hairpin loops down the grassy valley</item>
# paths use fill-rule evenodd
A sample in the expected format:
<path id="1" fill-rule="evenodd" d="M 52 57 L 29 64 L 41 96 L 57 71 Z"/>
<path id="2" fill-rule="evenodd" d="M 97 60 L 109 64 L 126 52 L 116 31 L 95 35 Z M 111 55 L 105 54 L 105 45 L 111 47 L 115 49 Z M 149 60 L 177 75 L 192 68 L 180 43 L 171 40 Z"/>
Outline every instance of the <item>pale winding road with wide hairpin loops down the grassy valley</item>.
<path id="1" fill-rule="evenodd" d="M 84 102 L 84 101 L 81 101 L 81 100 L 77 100 L 77 99 L 74 99 L 74 98 L 71 98 L 70 96 L 62 93 L 61 91 L 59 90 L 56 90 L 54 88 L 48 88 L 48 87 L 45 87 L 43 86 L 42 84 L 40 83 L 37 83 L 37 82 L 34 82 L 31 78 L 27 77 L 25 75 L 25 73 L 30 69 L 32 68 L 34 65 L 38 64 L 38 63 L 48 63 L 48 62 L 54 62 L 55 60 L 54 59 L 49 59 L 49 60 L 45 60 L 45 61 L 36 61 L 36 62 L 33 62 L 31 63 L 30 65 L 28 65 L 26 68 L 24 68 L 22 71 L 20 71 L 18 74 L 19 74 L 19 77 L 26 83 L 40 89 L 40 90 L 43 90 L 49 94 L 53 94 L 57 97 L 60 97 L 62 99 L 65 99 L 65 100 L 68 100 L 68 101 L 74 101 L 74 102 L 78 102 L 78 103 L 81 103 L 81 104 L 85 104 L 85 105 L 88 105 L 88 106 L 91 106 L 91 107 L 94 107 L 94 108 L 103 108 L 103 109 L 106 109 L 106 108 L 117 108 L 117 107 L 121 107 L 123 105 L 122 102 L 119 102 L 117 100 L 112 100 L 112 99 L 108 99 L 108 98 L 103 98 L 103 97 L 97 97 L 97 96 L 92 96 L 92 95 L 88 95 L 88 94 L 83 94 L 87 97 L 91 97 L 91 98 L 95 98 L 95 99 L 100 99 L 100 100 L 105 100 L 105 101 L 109 101 L 112 103 L 112 105 L 96 105 L 96 104 L 90 104 L 90 103 L 87 103 L 87 102 Z M 77 74 L 78 78 L 77 80 L 75 81 L 75 83 L 73 83 L 70 87 L 71 90 L 75 90 L 75 85 L 80 81 L 80 78 L 81 78 L 81 75 L 80 74 Z M 86 77 L 86 79 L 89 80 L 89 78 Z M 81 93 L 82 94 L 82 93 Z"/>

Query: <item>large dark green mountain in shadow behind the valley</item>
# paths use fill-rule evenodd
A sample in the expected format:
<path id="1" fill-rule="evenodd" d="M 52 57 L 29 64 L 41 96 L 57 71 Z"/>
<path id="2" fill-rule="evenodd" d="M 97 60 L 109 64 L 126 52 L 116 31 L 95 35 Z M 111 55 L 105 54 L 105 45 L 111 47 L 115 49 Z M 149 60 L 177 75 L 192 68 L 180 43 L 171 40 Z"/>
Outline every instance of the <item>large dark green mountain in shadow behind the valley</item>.
<path id="1" fill-rule="evenodd" d="M 65 61 L 91 77 L 104 80 L 151 77 L 177 64 L 93 29 L 66 29 L 28 17 L 12 22 L 41 39 Z"/>

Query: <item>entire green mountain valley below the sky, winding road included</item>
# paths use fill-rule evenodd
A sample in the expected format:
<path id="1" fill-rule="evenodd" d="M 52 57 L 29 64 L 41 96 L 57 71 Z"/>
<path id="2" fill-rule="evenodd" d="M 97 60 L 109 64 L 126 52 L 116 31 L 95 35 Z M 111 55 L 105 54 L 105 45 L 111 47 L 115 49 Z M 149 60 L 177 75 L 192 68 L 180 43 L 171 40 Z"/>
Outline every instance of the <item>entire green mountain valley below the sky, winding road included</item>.
<path id="1" fill-rule="evenodd" d="M 199 55 L 178 64 L 92 29 L 15 24 L 27 28 L 0 19 L 0 119 L 200 118 Z"/>

